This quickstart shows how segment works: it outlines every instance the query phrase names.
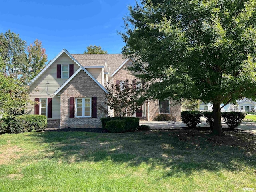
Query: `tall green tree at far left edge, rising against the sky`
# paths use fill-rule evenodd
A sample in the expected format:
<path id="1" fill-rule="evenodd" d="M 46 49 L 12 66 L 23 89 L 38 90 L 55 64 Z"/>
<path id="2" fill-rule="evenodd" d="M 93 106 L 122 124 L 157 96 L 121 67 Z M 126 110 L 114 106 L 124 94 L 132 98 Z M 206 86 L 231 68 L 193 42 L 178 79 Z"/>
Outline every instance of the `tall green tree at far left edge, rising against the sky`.
<path id="1" fill-rule="evenodd" d="M 1 72 L 10 76 L 24 75 L 28 71 L 26 41 L 10 30 L 0 34 L 0 57 L 4 66 Z"/>

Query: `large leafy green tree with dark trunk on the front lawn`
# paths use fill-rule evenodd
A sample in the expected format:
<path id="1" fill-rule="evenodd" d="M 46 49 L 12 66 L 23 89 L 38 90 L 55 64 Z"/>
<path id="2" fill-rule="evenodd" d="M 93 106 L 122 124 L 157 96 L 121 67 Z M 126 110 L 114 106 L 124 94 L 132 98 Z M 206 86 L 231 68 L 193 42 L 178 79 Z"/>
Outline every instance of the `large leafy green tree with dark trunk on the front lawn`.
<path id="1" fill-rule="evenodd" d="M 148 97 L 220 104 L 256 94 L 255 0 L 142 0 L 125 18 L 122 53 L 148 83 Z"/>

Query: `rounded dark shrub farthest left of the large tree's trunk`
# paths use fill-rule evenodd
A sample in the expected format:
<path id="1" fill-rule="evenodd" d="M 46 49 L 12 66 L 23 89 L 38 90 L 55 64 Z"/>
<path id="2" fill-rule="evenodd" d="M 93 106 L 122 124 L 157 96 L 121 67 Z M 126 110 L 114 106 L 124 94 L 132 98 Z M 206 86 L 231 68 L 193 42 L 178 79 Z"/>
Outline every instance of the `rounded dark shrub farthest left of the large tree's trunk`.
<path id="1" fill-rule="evenodd" d="M 195 128 L 197 124 L 201 123 L 202 114 L 199 111 L 182 111 L 181 120 L 190 128 Z"/>

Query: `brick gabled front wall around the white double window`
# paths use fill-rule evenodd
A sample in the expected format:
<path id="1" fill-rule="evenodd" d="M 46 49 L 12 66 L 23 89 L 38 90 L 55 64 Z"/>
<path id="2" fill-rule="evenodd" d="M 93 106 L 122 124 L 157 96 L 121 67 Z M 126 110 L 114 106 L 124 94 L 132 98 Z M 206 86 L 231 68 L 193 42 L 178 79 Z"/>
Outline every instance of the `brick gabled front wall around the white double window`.
<path id="1" fill-rule="evenodd" d="M 60 128 L 101 128 L 100 118 L 106 117 L 104 112 L 97 108 L 97 118 L 69 118 L 69 98 L 74 97 L 74 105 L 77 97 L 97 97 L 97 107 L 105 105 L 105 92 L 81 70 L 61 91 L 60 95 Z M 75 111 L 75 108 L 74 108 Z M 75 112 L 74 112 L 75 113 Z"/>

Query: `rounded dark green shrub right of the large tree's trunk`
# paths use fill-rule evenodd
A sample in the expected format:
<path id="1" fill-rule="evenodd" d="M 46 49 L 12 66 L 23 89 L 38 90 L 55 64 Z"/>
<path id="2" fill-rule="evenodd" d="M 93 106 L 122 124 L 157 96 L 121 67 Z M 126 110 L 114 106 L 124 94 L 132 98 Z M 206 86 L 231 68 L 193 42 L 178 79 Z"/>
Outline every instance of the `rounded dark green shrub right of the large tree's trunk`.
<path id="1" fill-rule="evenodd" d="M 222 118 L 224 119 L 224 122 L 226 125 L 234 130 L 245 117 L 245 114 L 238 111 L 231 111 L 231 112 L 223 112 L 221 114 Z"/>

